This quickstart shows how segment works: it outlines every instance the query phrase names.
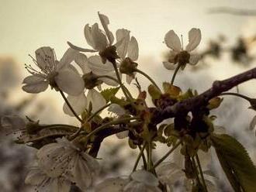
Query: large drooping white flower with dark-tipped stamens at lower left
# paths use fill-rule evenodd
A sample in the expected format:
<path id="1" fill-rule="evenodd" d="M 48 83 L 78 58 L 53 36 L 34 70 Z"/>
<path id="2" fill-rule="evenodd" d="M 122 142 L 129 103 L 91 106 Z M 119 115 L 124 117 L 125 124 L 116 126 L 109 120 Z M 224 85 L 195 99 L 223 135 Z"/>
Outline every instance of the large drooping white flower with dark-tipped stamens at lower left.
<path id="1" fill-rule="evenodd" d="M 65 177 L 81 190 L 90 187 L 99 173 L 99 163 L 65 138 L 37 152 L 39 166 L 48 177 Z"/>

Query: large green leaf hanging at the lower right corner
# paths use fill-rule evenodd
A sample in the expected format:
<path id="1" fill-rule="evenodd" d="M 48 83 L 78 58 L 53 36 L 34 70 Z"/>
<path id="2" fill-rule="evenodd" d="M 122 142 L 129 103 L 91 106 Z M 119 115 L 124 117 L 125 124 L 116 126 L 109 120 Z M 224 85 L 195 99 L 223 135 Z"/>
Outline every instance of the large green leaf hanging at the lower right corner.
<path id="1" fill-rule="evenodd" d="M 255 191 L 256 167 L 244 146 L 230 135 L 211 135 L 220 164 L 234 191 Z"/>

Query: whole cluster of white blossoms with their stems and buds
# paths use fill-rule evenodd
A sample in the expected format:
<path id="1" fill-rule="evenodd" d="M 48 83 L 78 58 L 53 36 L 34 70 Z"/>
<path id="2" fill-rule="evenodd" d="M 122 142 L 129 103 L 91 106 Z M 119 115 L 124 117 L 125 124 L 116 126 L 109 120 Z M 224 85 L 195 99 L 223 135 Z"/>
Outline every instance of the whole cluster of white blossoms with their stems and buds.
<path id="1" fill-rule="evenodd" d="M 187 63 L 195 65 L 199 62 L 200 56 L 192 51 L 201 41 L 200 29 L 189 31 L 189 44 L 185 50 L 173 30 L 165 35 L 164 42 L 171 52 L 163 64 L 175 73 L 171 83 L 163 83 L 161 91 L 154 80 L 138 69 L 137 39 L 130 36 L 127 29 L 117 29 L 114 38 L 108 17 L 99 13 L 99 19 L 103 30 L 98 23 L 87 24 L 84 29 L 91 49 L 68 42 L 70 48 L 61 60 L 57 60 L 54 49 L 40 47 L 35 58 L 32 57 L 37 69 L 26 65 L 31 75 L 22 82 L 22 90 L 28 93 L 46 91 L 49 85 L 60 92 L 65 101 L 64 113 L 77 118 L 81 125 L 41 125 L 30 118 L 26 123 L 17 117 L 2 118 L 3 127 L 20 133 L 17 142 L 37 150 L 36 163 L 31 166 L 26 183 L 34 185 L 36 191 L 57 192 L 68 192 L 72 186 L 82 191 L 94 187 L 97 192 L 160 192 L 172 191 L 181 183 L 184 191 L 216 191 L 213 175 L 200 164 L 199 159 L 203 157 L 199 152 L 210 156 L 209 148 L 213 145 L 216 128 L 213 125 L 215 117 L 209 113 L 220 106 L 222 99 L 211 98 L 191 114 L 178 114 L 171 123 L 154 124 L 157 110 L 197 96 L 196 91 L 182 92 L 174 85 L 174 80 L 180 68 L 183 70 Z M 135 79 L 137 98 L 133 98 L 123 83 L 123 74 L 127 84 Z M 137 74 L 151 82 L 148 94 L 155 108 L 148 107 L 147 92 L 142 91 Z M 102 90 L 104 84 L 111 88 Z M 119 89 L 124 98 L 116 96 Z M 99 114 L 106 108 L 114 115 L 102 118 Z M 130 176 L 112 177 L 97 183 L 100 172 L 97 155 L 101 142 L 114 134 L 119 139 L 128 138 L 130 147 L 140 149 L 140 153 Z M 172 148 L 153 162 L 156 142 Z M 179 156 L 178 161 L 163 162 L 174 150 L 175 156 Z M 143 166 L 137 169 L 140 159 L 143 159 Z"/>

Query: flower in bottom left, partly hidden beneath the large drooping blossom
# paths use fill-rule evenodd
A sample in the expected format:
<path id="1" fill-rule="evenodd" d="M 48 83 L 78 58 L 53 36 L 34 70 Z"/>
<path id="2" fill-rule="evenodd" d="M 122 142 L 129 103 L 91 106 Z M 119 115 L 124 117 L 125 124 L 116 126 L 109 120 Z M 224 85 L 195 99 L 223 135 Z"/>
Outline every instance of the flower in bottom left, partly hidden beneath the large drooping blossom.
<path id="1" fill-rule="evenodd" d="M 70 180 L 62 176 L 49 177 L 37 164 L 30 168 L 25 183 L 35 186 L 38 192 L 69 192 L 71 189 Z"/>

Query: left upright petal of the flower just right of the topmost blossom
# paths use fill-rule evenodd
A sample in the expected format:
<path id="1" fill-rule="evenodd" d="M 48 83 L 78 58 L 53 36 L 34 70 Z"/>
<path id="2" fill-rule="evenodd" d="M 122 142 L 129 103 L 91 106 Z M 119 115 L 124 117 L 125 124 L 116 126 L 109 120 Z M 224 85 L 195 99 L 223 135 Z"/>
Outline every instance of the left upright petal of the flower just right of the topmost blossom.
<path id="1" fill-rule="evenodd" d="M 118 46 L 116 46 L 116 51 L 123 60 L 126 57 L 128 43 L 130 42 L 130 31 L 127 29 L 117 29 L 116 30 L 116 42 L 120 42 Z"/>

